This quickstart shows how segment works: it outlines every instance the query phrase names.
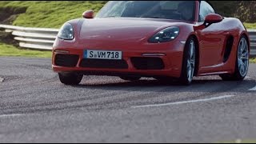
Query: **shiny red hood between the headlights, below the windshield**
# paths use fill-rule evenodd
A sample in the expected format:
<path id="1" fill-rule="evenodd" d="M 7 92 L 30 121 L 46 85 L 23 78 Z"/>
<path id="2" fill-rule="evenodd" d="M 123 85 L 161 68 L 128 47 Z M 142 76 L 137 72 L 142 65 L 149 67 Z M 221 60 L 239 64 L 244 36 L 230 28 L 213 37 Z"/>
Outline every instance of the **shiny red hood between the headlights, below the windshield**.
<path id="1" fill-rule="evenodd" d="M 168 26 L 182 21 L 156 18 L 94 18 L 82 22 L 80 38 L 101 41 L 143 41 Z"/>

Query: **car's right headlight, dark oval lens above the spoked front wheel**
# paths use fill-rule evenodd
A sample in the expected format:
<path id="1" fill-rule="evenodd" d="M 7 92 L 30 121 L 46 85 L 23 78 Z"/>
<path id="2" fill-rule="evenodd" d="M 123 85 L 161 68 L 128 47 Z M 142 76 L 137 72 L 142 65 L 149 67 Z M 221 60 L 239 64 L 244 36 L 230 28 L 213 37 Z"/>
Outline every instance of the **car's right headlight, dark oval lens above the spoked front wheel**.
<path id="1" fill-rule="evenodd" d="M 159 31 L 157 34 L 154 34 L 153 37 L 149 39 L 149 42 L 158 43 L 158 42 L 170 42 L 177 38 L 179 34 L 178 26 L 171 26 L 164 30 Z"/>

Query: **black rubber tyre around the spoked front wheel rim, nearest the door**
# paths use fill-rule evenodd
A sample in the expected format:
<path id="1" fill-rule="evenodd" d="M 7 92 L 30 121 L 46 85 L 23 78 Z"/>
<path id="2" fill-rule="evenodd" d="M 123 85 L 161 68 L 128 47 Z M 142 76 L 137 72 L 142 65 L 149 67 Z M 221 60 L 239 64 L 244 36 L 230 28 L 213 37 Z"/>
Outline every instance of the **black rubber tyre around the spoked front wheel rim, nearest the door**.
<path id="1" fill-rule="evenodd" d="M 192 78 L 191 78 L 191 75 L 190 75 L 190 78 L 189 78 L 189 68 L 188 68 L 188 58 L 190 58 L 190 42 L 194 42 L 194 66 L 190 65 L 191 66 L 191 72 L 190 73 L 193 73 L 192 74 Z M 186 41 L 186 45 L 185 45 L 185 48 L 184 48 L 184 51 L 183 51 L 183 59 L 182 59 L 182 74 L 179 78 L 179 82 L 181 85 L 185 85 L 185 86 L 189 86 L 193 80 L 193 76 L 194 76 L 194 71 L 195 71 L 195 66 L 196 66 L 196 49 L 197 49 L 197 45 L 195 43 L 195 39 L 193 37 L 190 37 L 188 38 L 188 40 Z M 192 59 L 192 58 L 191 58 Z"/>

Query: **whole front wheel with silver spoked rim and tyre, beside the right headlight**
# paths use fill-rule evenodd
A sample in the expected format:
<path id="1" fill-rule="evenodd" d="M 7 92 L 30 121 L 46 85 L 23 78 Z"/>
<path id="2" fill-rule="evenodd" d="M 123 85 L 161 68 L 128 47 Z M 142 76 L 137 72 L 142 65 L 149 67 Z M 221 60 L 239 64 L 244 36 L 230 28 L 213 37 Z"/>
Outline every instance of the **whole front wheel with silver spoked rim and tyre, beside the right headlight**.
<path id="1" fill-rule="evenodd" d="M 182 74 L 179 78 L 179 81 L 182 85 L 190 85 L 194 77 L 194 68 L 195 68 L 195 58 L 196 58 L 196 51 L 195 51 L 195 40 L 194 38 L 190 37 L 185 45 L 184 54 L 183 54 L 183 61 L 182 61 Z"/>

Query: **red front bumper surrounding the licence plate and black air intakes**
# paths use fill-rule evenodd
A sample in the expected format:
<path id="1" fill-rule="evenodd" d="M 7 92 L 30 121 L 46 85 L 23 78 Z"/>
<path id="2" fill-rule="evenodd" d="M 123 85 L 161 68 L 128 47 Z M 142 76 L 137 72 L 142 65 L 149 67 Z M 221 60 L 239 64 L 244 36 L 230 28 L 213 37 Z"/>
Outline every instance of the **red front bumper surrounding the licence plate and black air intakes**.
<path id="1" fill-rule="evenodd" d="M 86 45 L 85 45 L 86 44 Z M 102 42 L 102 41 L 62 41 L 57 39 L 54 43 L 53 56 L 52 56 L 52 68 L 55 72 L 81 72 L 83 74 L 95 74 L 95 75 L 140 75 L 145 77 L 154 76 L 169 76 L 179 78 L 182 70 L 182 57 L 185 44 L 180 41 L 166 42 L 166 43 L 139 43 L 129 42 Z M 86 47 L 86 48 L 85 48 Z M 114 63 L 104 63 L 102 66 L 82 66 L 82 63 L 86 61 L 83 58 L 84 50 L 118 50 L 122 51 L 122 61 L 127 66 L 116 67 L 112 66 Z M 66 51 L 69 55 L 76 55 L 77 62 L 74 66 L 60 66 L 56 63 L 58 54 L 62 54 L 62 50 Z M 146 55 L 143 55 L 146 54 Z M 153 54 L 153 55 L 152 55 Z M 156 54 L 156 55 L 154 55 Z M 164 55 L 162 55 L 164 54 Z M 143 69 L 138 68 L 138 65 L 134 64 L 134 58 L 151 58 L 156 61 L 161 61 L 163 66 L 157 66 L 157 69 L 147 68 L 147 66 L 156 66 L 158 62 L 154 60 L 144 64 L 146 66 Z M 160 60 L 159 60 L 160 59 Z M 88 59 L 87 59 L 88 60 Z M 65 61 L 65 60 L 64 60 Z M 138 60 L 139 61 L 139 60 Z M 144 60 L 142 60 L 144 61 Z M 152 64 L 152 62 L 154 64 Z M 93 62 L 87 62 L 87 64 Z M 122 63 L 122 62 L 121 62 Z M 98 64 L 96 62 L 96 64 Z M 95 65 L 96 65 L 95 64 Z M 111 65 L 108 67 L 106 65 Z M 155 67 L 154 67 L 155 68 Z"/>

